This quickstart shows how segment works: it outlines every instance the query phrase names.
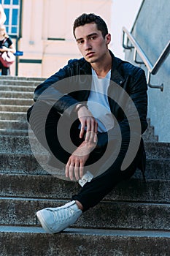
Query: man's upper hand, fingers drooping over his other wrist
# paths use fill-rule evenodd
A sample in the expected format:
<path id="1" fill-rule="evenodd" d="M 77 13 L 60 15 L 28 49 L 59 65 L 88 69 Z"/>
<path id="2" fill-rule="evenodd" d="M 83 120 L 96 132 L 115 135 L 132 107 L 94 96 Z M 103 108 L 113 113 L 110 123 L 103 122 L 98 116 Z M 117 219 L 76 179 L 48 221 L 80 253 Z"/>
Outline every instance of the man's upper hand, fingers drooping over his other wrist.
<path id="1" fill-rule="evenodd" d="M 93 117 L 90 110 L 82 105 L 82 107 L 77 111 L 77 115 L 81 123 L 80 138 L 84 135 L 86 127 L 85 142 L 96 143 L 98 122 Z"/>

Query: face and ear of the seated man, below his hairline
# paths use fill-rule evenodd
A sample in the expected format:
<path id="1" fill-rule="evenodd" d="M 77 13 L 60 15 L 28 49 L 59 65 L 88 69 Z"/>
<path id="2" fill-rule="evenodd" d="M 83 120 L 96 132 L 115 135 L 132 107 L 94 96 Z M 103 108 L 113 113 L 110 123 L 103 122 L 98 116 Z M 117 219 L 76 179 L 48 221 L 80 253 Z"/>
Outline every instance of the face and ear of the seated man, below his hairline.
<path id="1" fill-rule="evenodd" d="M 80 53 L 86 61 L 94 63 L 104 59 L 108 51 L 110 34 L 104 38 L 101 31 L 97 29 L 96 23 L 78 26 L 74 33 Z"/>

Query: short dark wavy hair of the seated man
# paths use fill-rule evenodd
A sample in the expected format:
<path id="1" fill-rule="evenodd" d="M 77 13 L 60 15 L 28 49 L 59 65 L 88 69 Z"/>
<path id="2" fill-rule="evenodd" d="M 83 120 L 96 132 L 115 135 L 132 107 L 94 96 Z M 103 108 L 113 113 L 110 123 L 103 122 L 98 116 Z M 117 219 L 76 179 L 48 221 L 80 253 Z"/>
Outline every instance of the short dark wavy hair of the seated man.
<path id="1" fill-rule="evenodd" d="M 90 14 L 83 13 L 82 15 L 80 15 L 80 17 L 78 17 L 74 21 L 74 25 L 73 25 L 74 37 L 75 37 L 75 29 L 78 26 L 84 26 L 85 24 L 88 24 L 88 23 L 96 23 L 97 29 L 101 31 L 101 34 L 103 37 L 105 37 L 106 34 L 108 34 L 107 24 L 100 16 L 97 16 L 93 13 L 90 13 Z"/>

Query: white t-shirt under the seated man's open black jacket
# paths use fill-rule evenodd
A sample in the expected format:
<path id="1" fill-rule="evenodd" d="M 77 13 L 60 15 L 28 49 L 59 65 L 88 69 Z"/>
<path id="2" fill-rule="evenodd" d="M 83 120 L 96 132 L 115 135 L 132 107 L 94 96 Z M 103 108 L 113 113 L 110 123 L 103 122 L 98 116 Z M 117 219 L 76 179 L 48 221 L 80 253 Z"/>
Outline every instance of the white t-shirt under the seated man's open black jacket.
<path id="1" fill-rule="evenodd" d="M 93 78 L 87 105 L 90 112 L 98 121 L 98 132 L 107 132 L 114 127 L 114 118 L 110 111 L 107 98 L 110 76 L 111 70 L 105 78 L 98 78 L 98 75 L 92 69 Z"/>

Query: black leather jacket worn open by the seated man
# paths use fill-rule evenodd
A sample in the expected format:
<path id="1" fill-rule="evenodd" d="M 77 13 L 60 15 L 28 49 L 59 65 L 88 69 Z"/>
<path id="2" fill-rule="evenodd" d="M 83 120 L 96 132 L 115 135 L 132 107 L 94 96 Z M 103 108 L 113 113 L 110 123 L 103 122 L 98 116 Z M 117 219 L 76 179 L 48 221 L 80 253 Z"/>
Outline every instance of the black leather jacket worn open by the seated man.
<path id="1" fill-rule="evenodd" d="M 125 90 L 139 113 L 143 133 L 147 129 L 147 83 L 144 70 L 116 58 L 112 52 L 110 54 L 112 56 L 112 82 L 109 85 L 108 94 L 112 114 L 115 116 L 121 131 L 127 132 L 129 129 L 128 118 L 131 118 L 133 113 L 128 118 L 125 116 L 125 108 L 128 108 L 126 106 L 128 105 L 127 97 L 123 93 Z M 36 87 L 34 101 L 45 99 L 46 102 L 49 101 L 50 104 L 53 104 L 59 113 L 63 113 L 71 105 L 75 106 L 74 104 L 88 100 L 91 84 L 90 75 L 91 66 L 85 59 L 71 60 L 63 69 Z M 57 83 L 58 81 L 60 82 Z M 48 90 L 46 90 L 47 88 Z M 43 97 L 43 95 L 45 96 Z M 72 113 L 72 108 L 69 108 L 68 113 Z M 136 116 L 133 118 L 135 124 Z"/>

